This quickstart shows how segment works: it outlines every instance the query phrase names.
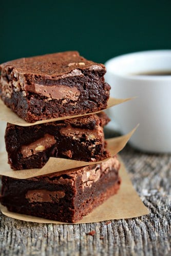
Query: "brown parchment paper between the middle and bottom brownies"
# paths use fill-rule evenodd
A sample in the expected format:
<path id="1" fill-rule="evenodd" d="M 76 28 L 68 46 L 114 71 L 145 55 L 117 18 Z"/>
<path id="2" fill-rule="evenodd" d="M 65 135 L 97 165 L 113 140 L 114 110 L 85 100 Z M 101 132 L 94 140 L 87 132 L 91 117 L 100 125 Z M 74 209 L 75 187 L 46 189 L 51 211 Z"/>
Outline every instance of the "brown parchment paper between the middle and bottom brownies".
<path id="1" fill-rule="evenodd" d="M 133 129 L 131 132 L 129 132 L 126 135 L 107 139 L 107 149 L 110 151 L 111 156 L 115 156 L 120 152 L 131 135 L 135 132 L 135 129 Z M 35 169 L 26 169 L 26 170 L 12 170 L 10 168 L 10 165 L 8 162 L 7 153 L 1 153 L 0 155 L 0 175 L 5 175 L 8 177 L 16 178 L 16 179 L 28 179 L 31 177 L 39 176 L 39 175 L 45 175 L 55 172 L 60 172 L 62 170 L 72 169 L 75 167 L 81 167 L 86 166 L 94 163 L 100 163 L 103 161 L 98 162 L 84 162 L 84 161 L 76 161 L 76 160 L 70 160 L 65 158 L 55 158 L 50 157 L 48 162 L 42 167 L 42 168 L 35 168 Z"/>

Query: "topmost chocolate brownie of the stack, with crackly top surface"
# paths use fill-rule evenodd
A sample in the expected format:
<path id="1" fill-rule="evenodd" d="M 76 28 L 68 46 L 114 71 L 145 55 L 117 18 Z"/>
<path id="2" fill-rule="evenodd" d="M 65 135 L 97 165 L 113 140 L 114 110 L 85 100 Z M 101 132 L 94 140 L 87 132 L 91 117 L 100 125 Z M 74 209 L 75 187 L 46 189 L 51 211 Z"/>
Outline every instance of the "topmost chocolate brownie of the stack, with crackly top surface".
<path id="1" fill-rule="evenodd" d="M 110 86 L 105 66 L 76 51 L 3 63 L 0 95 L 28 122 L 86 114 L 106 108 Z"/>

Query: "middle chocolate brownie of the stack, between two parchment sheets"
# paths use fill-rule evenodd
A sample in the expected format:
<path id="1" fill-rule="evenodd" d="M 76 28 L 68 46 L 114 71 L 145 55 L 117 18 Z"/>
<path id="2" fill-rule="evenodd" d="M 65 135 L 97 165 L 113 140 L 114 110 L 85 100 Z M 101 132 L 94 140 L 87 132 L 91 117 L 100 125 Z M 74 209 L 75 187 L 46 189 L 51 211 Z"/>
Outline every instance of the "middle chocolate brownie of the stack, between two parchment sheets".
<path id="1" fill-rule="evenodd" d="M 95 162 L 110 157 L 105 150 L 104 112 L 32 126 L 7 124 L 8 163 L 12 169 L 41 168 L 49 157 Z"/>

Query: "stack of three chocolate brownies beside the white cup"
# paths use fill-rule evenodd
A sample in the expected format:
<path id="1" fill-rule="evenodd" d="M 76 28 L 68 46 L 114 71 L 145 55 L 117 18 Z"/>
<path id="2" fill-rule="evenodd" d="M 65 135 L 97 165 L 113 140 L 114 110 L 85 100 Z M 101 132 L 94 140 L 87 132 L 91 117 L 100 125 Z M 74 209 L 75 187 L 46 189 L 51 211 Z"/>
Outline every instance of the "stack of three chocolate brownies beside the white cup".
<path id="1" fill-rule="evenodd" d="M 70 51 L 17 59 L 0 67 L 1 99 L 32 123 L 7 124 L 11 168 L 41 168 L 49 157 L 94 162 L 29 179 L 3 176 L 1 203 L 21 214 L 70 223 L 81 220 L 120 186 L 119 160 L 110 156 L 104 139 L 109 118 L 104 112 L 89 114 L 107 107 L 110 86 L 104 81 L 104 65 Z M 73 117 L 80 114 L 87 115 Z M 59 117 L 65 118 L 49 122 Z M 40 120 L 46 122 L 35 124 Z"/>

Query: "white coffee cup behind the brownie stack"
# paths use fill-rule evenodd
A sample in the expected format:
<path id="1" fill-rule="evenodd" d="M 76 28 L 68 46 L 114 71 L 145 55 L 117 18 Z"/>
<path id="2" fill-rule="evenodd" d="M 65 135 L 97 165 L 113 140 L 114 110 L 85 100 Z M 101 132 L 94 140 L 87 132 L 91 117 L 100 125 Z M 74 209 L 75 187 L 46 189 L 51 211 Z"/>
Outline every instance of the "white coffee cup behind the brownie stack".
<path id="1" fill-rule="evenodd" d="M 108 60 L 105 66 L 112 97 L 137 97 L 108 112 L 120 132 L 126 134 L 140 123 L 130 139 L 132 146 L 171 153 L 171 50 L 130 53 Z M 149 75 L 168 71 L 167 75 Z"/>

